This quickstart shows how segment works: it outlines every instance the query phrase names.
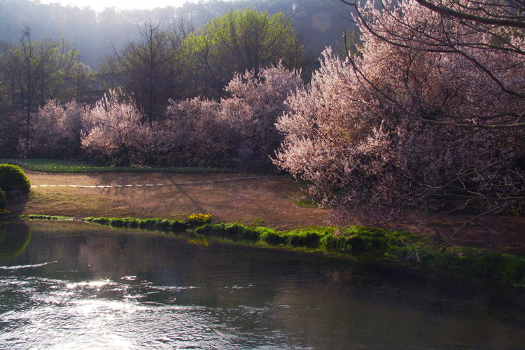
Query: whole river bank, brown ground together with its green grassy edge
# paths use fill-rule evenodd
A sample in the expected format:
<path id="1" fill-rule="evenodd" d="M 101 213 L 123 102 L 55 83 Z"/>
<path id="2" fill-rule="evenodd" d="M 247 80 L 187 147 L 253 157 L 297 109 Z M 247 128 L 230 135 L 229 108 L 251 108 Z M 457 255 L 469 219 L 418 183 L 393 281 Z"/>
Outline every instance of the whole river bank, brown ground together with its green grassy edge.
<path id="1" fill-rule="evenodd" d="M 11 216 L 75 218 L 116 228 L 143 228 L 246 239 L 267 246 L 337 252 L 465 272 L 525 286 L 524 218 L 481 218 L 442 245 L 461 216 L 401 216 L 395 225 L 356 218 L 329 225 L 330 211 L 304 205 L 304 183 L 288 176 L 247 174 L 89 173 L 26 171 L 27 196 L 10 200 Z M 211 222 L 189 220 L 209 213 Z M 328 223 L 328 226 L 327 226 Z"/>

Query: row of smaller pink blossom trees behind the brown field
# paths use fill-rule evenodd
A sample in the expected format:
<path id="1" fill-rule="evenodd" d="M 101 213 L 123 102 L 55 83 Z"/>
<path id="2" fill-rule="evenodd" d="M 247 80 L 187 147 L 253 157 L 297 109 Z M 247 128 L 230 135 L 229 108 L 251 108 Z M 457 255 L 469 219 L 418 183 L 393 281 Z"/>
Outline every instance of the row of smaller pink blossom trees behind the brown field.
<path id="1" fill-rule="evenodd" d="M 282 64 L 260 69 L 258 76 L 246 71 L 230 81 L 228 97 L 169 101 L 152 125 L 118 91 L 92 107 L 50 101 L 36 113 L 33 145 L 41 156 L 58 158 L 81 147 L 88 158 L 113 165 L 267 171 L 282 140 L 276 119 L 289 110 L 286 98 L 302 88 L 299 73 Z"/>

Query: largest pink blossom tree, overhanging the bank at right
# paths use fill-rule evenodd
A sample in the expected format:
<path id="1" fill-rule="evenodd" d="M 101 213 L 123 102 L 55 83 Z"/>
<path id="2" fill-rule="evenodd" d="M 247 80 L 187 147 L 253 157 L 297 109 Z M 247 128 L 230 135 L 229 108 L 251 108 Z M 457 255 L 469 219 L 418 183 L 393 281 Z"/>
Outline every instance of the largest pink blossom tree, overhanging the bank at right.
<path id="1" fill-rule="evenodd" d="M 276 165 L 344 209 L 522 205 L 523 3 L 354 5 L 363 48 L 345 59 L 327 50 L 288 99 Z"/>

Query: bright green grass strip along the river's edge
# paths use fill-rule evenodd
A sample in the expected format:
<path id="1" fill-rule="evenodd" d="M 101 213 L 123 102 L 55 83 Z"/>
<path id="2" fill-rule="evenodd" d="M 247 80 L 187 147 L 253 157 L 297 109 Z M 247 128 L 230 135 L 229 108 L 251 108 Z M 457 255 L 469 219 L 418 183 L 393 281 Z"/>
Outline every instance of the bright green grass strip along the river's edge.
<path id="1" fill-rule="evenodd" d="M 63 216 L 28 215 L 22 218 L 43 220 L 71 220 Z M 286 232 L 262 226 L 252 227 L 240 223 L 191 223 L 163 218 L 85 218 L 88 223 L 109 225 L 114 228 L 142 228 L 181 232 L 188 230 L 197 235 L 230 237 L 261 241 L 268 245 L 321 248 L 361 259 L 419 262 L 423 265 L 486 276 L 514 286 L 525 288 L 525 256 L 502 254 L 479 248 L 442 246 L 438 249 L 427 235 L 412 232 L 349 226 L 305 228 Z M 435 249 L 435 250 L 434 250 Z"/>

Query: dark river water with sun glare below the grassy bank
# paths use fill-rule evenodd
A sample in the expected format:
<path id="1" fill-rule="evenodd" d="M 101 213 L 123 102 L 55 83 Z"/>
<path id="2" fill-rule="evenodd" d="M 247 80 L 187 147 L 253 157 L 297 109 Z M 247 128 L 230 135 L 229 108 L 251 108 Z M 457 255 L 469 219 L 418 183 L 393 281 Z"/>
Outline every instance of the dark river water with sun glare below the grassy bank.
<path id="1" fill-rule="evenodd" d="M 524 349 L 525 292 L 75 222 L 0 226 L 0 349 Z"/>

